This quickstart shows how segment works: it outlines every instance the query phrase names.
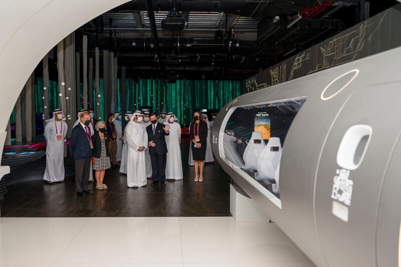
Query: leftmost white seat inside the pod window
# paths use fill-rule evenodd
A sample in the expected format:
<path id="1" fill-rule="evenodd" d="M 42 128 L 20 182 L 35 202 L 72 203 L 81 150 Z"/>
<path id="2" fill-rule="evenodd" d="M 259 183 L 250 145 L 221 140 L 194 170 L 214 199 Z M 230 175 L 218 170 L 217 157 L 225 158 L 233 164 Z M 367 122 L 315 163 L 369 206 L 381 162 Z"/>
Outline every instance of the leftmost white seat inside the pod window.
<path id="1" fill-rule="evenodd" d="M 253 132 L 251 140 L 249 140 L 249 143 L 244 151 L 243 159 L 245 162 L 245 169 L 256 170 L 258 158 L 265 147 L 266 143 L 265 140 L 263 140 L 262 133 Z"/>

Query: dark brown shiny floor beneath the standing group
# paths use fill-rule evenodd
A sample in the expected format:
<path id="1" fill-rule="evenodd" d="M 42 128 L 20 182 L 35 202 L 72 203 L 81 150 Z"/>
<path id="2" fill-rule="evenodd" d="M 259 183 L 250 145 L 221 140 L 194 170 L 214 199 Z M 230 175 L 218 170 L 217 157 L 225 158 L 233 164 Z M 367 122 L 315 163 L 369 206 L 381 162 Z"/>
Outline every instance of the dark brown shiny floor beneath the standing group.
<path id="1" fill-rule="evenodd" d="M 166 186 L 127 188 L 126 176 L 108 170 L 109 189 L 85 197 L 76 195 L 74 177 L 65 183 L 43 181 L 8 187 L 0 200 L 1 216 L 6 217 L 143 217 L 143 216 L 229 216 L 230 178 L 219 164 L 206 165 L 204 181 L 193 181 L 194 168 L 187 165 L 188 140 L 181 144 L 183 180 L 167 181 Z M 90 188 L 94 189 L 94 184 Z"/>

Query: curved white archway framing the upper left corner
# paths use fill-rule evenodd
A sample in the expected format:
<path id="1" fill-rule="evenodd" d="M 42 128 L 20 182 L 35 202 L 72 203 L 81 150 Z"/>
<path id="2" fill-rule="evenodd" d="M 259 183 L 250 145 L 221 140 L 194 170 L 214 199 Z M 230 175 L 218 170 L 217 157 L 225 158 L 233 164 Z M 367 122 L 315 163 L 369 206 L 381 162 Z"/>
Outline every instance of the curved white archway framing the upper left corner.
<path id="1" fill-rule="evenodd" d="M 0 161 L 6 127 L 26 81 L 67 35 L 129 0 L 0 1 Z M 9 172 L 0 166 L 0 179 Z"/>

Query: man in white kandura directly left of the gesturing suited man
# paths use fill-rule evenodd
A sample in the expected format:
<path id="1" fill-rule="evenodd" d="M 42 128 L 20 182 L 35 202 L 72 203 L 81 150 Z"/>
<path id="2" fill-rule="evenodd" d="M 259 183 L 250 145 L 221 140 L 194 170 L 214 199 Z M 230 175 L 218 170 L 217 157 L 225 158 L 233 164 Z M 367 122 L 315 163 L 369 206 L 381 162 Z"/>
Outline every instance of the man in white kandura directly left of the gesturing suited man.
<path id="1" fill-rule="evenodd" d="M 128 144 L 127 185 L 132 188 L 146 187 L 147 133 L 142 120 L 142 112 L 135 111 L 131 123 L 125 128 L 124 142 Z"/>

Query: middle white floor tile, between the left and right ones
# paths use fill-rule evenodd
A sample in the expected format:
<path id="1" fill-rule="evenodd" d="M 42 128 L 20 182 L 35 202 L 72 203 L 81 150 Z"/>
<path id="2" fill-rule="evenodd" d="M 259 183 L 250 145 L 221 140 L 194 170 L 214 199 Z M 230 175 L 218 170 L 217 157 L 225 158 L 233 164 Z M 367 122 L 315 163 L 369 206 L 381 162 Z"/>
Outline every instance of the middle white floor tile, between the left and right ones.
<path id="1" fill-rule="evenodd" d="M 91 218 L 56 263 L 182 263 L 179 219 Z"/>

